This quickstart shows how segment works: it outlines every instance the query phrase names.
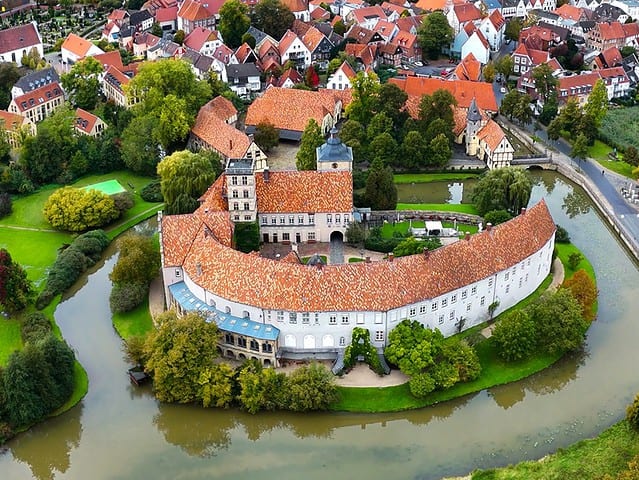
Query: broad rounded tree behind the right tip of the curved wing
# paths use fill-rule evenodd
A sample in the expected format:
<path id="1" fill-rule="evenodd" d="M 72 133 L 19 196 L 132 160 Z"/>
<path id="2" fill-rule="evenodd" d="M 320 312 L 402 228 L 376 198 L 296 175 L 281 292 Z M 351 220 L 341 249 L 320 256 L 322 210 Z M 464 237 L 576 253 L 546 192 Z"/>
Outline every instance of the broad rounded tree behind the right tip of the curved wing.
<path id="1" fill-rule="evenodd" d="M 499 168 L 481 176 L 472 193 L 472 201 L 480 215 L 491 210 L 507 210 L 518 214 L 530 200 L 532 182 L 518 168 Z"/>

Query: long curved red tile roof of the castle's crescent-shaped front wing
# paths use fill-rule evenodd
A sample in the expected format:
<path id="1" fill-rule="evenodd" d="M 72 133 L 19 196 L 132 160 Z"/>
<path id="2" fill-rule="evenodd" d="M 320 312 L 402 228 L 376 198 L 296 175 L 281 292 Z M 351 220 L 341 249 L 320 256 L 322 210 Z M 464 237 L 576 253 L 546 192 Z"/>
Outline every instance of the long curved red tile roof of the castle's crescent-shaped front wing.
<path id="1" fill-rule="evenodd" d="M 197 214 L 163 217 L 165 267 L 182 265 L 198 285 L 222 298 L 297 312 L 384 312 L 432 299 L 519 264 L 555 233 L 542 200 L 525 214 L 428 257 L 319 269 L 243 254 L 205 236 L 198 223 Z"/>

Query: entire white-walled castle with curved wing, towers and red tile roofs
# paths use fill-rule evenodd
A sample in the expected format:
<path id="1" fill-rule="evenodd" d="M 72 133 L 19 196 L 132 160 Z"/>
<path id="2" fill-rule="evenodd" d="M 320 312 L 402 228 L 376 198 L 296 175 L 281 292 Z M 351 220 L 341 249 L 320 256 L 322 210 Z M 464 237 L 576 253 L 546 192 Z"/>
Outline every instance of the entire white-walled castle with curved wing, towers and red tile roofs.
<path id="1" fill-rule="evenodd" d="M 352 174 L 340 170 L 350 164 L 334 150 L 349 152 L 333 135 L 318 149 L 328 160 L 315 172 L 257 171 L 254 161 L 230 160 L 198 210 L 160 214 L 167 307 L 215 321 L 222 355 L 275 366 L 333 359 L 338 370 L 354 327 L 368 329 L 380 352 L 404 319 L 453 335 L 517 304 L 549 274 L 555 224 L 543 201 L 466 240 L 379 262 L 305 265 L 295 252 L 273 260 L 232 248 L 234 222 L 243 215 L 257 219 L 264 241 L 343 235 Z"/>

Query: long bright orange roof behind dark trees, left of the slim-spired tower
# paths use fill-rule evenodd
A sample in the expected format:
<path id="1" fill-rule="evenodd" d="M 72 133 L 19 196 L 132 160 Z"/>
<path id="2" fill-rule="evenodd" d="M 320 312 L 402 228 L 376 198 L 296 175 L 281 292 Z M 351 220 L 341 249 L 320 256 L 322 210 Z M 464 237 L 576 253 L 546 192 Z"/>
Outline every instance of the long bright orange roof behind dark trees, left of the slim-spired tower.
<path id="1" fill-rule="evenodd" d="M 421 97 L 432 95 L 441 88 L 448 90 L 457 100 L 459 107 L 468 108 L 473 98 L 482 110 L 497 112 L 497 100 L 493 86 L 486 82 L 470 82 L 466 80 L 442 80 L 440 78 L 408 77 L 405 79 L 391 78 L 394 83 L 409 96 Z"/>

